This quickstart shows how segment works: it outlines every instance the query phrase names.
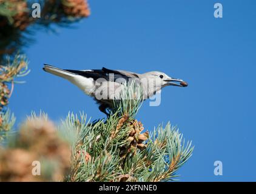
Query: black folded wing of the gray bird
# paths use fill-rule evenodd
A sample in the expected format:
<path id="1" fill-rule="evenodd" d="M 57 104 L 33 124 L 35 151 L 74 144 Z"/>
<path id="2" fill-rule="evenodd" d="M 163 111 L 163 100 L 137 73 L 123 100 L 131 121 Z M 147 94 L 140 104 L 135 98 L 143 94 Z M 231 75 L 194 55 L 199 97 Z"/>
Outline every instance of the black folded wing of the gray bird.
<path id="1" fill-rule="evenodd" d="M 118 78 L 123 78 L 125 79 L 127 82 L 129 81 L 129 77 L 127 75 L 124 75 L 121 72 L 118 72 L 116 70 L 110 70 L 110 69 L 106 69 L 105 67 L 103 67 L 103 69 L 100 70 L 90 70 L 90 71 L 81 71 L 81 70 L 69 70 L 69 69 L 65 69 L 67 72 L 71 72 L 71 73 L 75 73 L 76 75 L 81 75 L 84 76 L 86 78 L 93 78 L 93 80 L 99 79 L 99 78 L 104 78 L 107 81 L 109 81 L 109 74 L 113 74 L 113 79 L 114 81 L 116 81 L 116 79 Z"/>

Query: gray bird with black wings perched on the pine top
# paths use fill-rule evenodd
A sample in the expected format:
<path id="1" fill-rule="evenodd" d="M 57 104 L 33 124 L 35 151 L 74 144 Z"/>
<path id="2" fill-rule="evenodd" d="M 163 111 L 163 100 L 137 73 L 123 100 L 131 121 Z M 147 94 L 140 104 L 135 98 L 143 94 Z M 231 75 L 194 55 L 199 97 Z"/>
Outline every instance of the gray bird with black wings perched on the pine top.
<path id="1" fill-rule="evenodd" d="M 108 114 L 106 109 L 111 108 L 113 94 L 124 82 L 139 81 L 143 88 L 144 99 L 155 95 L 167 85 L 187 87 L 187 83 L 182 79 L 171 78 L 162 72 L 139 74 L 124 70 L 110 70 L 104 67 L 100 70 L 67 70 L 47 64 L 44 64 L 43 70 L 65 78 L 78 86 L 86 95 L 92 96 L 99 103 L 99 110 L 106 114 Z M 150 80 L 153 84 L 149 83 Z M 111 84 L 113 87 L 110 87 Z M 104 91 L 107 91 L 106 94 Z M 101 98 L 98 98 L 99 93 Z"/>

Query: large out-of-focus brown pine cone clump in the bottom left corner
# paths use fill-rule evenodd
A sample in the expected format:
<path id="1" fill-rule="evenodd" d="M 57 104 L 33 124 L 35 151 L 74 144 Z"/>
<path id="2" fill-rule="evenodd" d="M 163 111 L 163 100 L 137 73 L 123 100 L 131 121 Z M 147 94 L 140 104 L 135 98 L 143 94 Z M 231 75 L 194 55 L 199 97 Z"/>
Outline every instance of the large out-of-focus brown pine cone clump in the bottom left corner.
<path id="1" fill-rule="evenodd" d="M 71 150 L 45 119 L 29 119 L 19 130 L 16 149 L 0 150 L 0 181 L 62 181 L 69 172 Z M 32 162 L 49 165 L 41 176 L 32 175 Z"/>

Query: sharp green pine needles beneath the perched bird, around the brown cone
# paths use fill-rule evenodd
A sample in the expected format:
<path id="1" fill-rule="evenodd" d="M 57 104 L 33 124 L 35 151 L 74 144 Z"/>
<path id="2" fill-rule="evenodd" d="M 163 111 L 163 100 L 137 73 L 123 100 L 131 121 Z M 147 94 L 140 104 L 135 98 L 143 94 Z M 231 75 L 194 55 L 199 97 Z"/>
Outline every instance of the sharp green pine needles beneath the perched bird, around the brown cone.
<path id="1" fill-rule="evenodd" d="M 132 96 L 133 87 L 126 92 L 123 95 Z M 141 98 L 116 99 L 107 119 L 90 122 L 83 113 L 70 113 L 62 121 L 59 130 L 72 142 L 72 167 L 66 181 L 171 181 L 177 177 L 194 147 L 170 123 L 152 130 L 142 149 L 125 149 L 131 144 L 129 123 L 136 121 L 141 102 Z M 124 117 L 127 120 L 120 125 Z"/>

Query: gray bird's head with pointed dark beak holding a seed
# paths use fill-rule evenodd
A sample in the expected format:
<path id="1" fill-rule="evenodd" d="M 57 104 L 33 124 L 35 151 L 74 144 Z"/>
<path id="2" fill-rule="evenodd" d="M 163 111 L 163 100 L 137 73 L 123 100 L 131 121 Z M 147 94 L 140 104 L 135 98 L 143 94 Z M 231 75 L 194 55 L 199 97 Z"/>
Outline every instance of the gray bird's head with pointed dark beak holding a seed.
<path id="1" fill-rule="evenodd" d="M 161 84 L 161 88 L 167 85 L 174 85 L 179 87 L 187 87 L 188 85 L 187 82 L 183 81 L 182 79 L 171 78 L 163 72 L 147 72 L 143 75 L 149 79 L 158 79 L 159 83 Z"/>

